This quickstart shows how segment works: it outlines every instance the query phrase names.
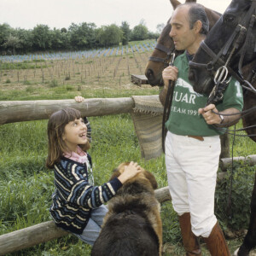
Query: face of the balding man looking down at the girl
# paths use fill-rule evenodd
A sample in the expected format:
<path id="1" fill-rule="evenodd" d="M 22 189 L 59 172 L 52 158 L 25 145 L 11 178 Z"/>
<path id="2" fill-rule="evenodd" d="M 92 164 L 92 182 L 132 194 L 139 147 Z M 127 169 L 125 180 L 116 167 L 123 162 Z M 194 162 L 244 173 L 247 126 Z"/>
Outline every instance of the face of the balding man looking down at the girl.
<path id="1" fill-rule="evenodd" d="M 188 7 L 176 9 L 170 21 L 172 29 L 169 35 L 177 50 L 189 50 L 195 44 L 195 31 L 190 29 L 188 10 Z"/>

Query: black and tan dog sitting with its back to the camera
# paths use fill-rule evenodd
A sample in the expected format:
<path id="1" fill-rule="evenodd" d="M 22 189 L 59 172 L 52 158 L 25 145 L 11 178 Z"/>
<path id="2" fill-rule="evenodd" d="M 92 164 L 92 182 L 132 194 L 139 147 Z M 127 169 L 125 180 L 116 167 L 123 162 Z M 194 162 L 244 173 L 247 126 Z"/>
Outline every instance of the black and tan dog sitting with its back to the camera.
<path id="1" fill-rule="evenodd" d="M 122 163 L 110 178 L 124 172 Z M 102 231 L 91 250 L 91 256 L 159 256 L 162 247 L 160 203 L 154 196 L 157 182 L 143 169 L 123 184 L 108 202 L 108 213 Z"/>

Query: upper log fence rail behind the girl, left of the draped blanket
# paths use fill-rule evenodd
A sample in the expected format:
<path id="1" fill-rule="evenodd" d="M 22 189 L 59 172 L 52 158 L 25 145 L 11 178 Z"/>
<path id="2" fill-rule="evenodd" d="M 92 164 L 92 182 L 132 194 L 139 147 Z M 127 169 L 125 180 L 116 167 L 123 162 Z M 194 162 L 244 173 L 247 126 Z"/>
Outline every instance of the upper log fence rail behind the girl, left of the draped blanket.
<path id="1" fill-rule="evenodd" d="M 0 102 L 0 125 L 49 119 L 51 113 L 61 108 L 76 108 L 84 116 L 102 116 L 129 113 L 134 106 L 135 103 L 131 97 L 92 98 L 85 99 L 84 102 L 74 100 Z"/>

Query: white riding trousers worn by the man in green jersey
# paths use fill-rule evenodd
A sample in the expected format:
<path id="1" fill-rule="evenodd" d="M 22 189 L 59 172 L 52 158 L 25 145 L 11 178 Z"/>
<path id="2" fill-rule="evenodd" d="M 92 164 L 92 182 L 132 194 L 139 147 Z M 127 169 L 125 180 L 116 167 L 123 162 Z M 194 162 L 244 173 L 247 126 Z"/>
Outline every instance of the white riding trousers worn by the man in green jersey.
<path id="1" fill-rule="evenodd" d="M 190 212 L 192 232 L 208 237 L 217 222 L 214 194 L 220 154 L 218 136 L 204 141 L 167 132 L 166 171 L 172 205 L 179 216 Z"/>

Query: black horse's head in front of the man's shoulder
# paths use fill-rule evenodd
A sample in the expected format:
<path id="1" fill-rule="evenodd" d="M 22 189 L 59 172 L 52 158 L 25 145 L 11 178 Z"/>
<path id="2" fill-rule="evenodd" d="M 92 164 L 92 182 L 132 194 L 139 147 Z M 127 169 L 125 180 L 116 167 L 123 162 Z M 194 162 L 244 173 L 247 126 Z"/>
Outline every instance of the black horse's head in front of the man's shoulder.
<path id="1" fill-rule="evenodd" d="M 208 32 L 189 62 L 189 79 L 196 92 L 209 95 L 214 86 L 213 76 L 215 82 L 224 76 L 228 79 L 228 70 L 242 76 L 241 67 L 256 57 L 255 6 L 255 0 L 233 0 Z M 223 76 L 217 77 L 220 70 Z"/>

